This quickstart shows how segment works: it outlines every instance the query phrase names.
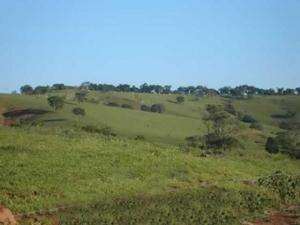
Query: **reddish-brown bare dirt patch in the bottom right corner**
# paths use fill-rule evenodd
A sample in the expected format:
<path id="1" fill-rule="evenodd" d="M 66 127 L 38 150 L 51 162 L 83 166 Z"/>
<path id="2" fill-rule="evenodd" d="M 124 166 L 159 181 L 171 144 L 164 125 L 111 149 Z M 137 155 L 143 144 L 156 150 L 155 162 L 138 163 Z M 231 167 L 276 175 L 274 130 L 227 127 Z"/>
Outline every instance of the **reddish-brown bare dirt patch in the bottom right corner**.
<path id="1" fill-rule="evenodd" d="M 300 205 L 289 206 L 282 211 L 272 211 L 264 219 L 246 222 L 244 225 L 299 225 Z"/>

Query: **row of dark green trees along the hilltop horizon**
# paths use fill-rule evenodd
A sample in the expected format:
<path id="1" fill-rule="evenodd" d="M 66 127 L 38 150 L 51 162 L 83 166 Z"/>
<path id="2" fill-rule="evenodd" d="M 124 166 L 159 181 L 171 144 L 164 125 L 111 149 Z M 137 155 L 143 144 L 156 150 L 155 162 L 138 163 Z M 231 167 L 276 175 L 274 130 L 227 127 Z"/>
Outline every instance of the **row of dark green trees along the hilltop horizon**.
<path id="1" fill-rule="evenodd" d="M 191 94 L 196 96 L 214 96 L 221 95 L 224 97 L 243 97 L 253 95 L 300 95 L 300 87 L 297 88 L 258 88 L 250 85 L 240 85 L 236 87 L 222 87 L 217 89 L 199 86 L 181 86 L 172 89 L 171 85 L 158 85 L 144 83 L 139 87 L 129 84 L 102 84 L 84 82 L 80 86 L 68 86 L 65 84 L 53 84 L 52 86 L 37 86 L 33 88 L 30 85 L 24 85 L 20 88 L 21 94 L 45 94 L 51 91 L 65 89 L 83 89 L 91 91 L 117 91 L 117 92 L 135 92 L 135 93 L 156 93 L 156 94 Z"/>

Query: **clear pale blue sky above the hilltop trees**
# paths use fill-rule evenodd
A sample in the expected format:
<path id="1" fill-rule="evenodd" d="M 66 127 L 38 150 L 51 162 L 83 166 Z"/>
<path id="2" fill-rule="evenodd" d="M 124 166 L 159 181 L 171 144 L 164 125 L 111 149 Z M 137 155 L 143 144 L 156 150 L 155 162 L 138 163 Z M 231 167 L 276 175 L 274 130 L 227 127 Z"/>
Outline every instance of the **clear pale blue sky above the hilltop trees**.
<path id="1" fill-rule="evenodd" d="M 0 0 L 0 92 L 23 84 L 300 86 L 299 0 Z"/>

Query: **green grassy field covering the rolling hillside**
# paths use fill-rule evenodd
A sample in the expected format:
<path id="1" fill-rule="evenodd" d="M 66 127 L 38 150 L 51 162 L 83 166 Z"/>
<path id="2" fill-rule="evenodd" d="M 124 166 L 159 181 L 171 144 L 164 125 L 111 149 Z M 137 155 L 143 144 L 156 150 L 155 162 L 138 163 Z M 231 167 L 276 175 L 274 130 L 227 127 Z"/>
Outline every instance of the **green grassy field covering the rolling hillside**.
<path id="1" fill-rule="evenodd" d="M 187 96 L 176 104 L 176 95 L 91 92 L 89 100 L 96 103 L 77 103 L 72 91 L 59 94 L 67 104 L 35 118 L 38 126 L 0 126 L 0 202 L 14 213 L 66 205 L 72 209 L 57 214 L 62 224 L 239 224 L 280 203 L 272 191 L 244 180 L 276 170 L 300 174 L 299 161 L 264 150 L 267 134 L 279 130 L 271 115 L 284 112 L 284 105 L 297 112 L 294 119 L 299 121 L 299 97 L 234 100 L 264 131 L 240 124 L 241 148 L 202 157 L 181 144 L 205 131 L 205 105 L 226 99 Z M 109 107 L 103 104 L 107 101 L 163 103 L 166 112 Z M 86 116 L 73 115 L 76 106 Z M 47 96 L 0 95 L 1 111 L 13 108 L 51 110 Z M 110 126 L 117 137 L 82 131 L 87 124 Z M 134 140 L 136 135 L 145 141 Z"/>

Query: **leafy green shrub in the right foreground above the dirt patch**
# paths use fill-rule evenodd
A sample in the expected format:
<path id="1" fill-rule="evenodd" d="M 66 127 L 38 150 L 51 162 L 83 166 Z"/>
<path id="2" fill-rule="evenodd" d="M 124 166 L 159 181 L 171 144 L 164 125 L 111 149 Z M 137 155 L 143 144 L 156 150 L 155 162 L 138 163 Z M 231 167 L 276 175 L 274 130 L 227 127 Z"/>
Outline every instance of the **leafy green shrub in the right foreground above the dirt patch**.
<path id="1" fill-rule="evenodd" d="M 295 177 L 281 171 L 276 171 L 271 175 L 262 177 L 258 180 L 260 186 L 271 189 L 271 191 L 277 193 L 283 201 L 295 198 L 296 183 L 297 180 Z"/>

